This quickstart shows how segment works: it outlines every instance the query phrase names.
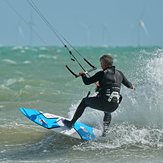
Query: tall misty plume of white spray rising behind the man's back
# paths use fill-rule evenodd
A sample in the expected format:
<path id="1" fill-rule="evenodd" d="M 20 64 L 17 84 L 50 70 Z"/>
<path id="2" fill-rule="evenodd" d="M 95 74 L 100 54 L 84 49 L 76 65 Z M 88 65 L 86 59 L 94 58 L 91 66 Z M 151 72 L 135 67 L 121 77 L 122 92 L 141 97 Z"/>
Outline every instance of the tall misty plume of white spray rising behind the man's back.
<path id="1" fill-rule="evenodd" d="M 123 100 L 113 113 L 113 122 L 160 126 L 163 124 L 163 50 L 141 54 L 137 62 L 141 66 L 133 74 L 138 83 L 136 91 L 122 87 Z"/>

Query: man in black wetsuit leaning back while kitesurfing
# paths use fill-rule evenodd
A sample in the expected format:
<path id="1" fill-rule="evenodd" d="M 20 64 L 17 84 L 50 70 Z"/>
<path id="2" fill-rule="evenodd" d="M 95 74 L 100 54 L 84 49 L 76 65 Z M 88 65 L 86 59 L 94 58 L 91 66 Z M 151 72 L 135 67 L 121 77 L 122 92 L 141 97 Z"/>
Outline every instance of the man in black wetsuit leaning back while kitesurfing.
<path id="1" fill-rule="evenodd" d="M 71 128 L 74 123 L 81 117 L 86 107 L 104 111 L 104 135 L 111 122 L 111 113 L 114 112 L 121 100 L 120 95 L 121 83 L 130 89 L 134 86 L 126 79 L 123 73 L 113 66 L 113 58 L 111 55 L 103 55 L 100 58 L 102 71 L 97 72 L 92 77 L 87 77 L 85 73 L 79 73 L 84 84 L 89 85 L 96 83 L 98 85 L 98 94 L 95 97 L 83 98 L 79 104 L 71 121 L 64 120 L 64 124 Z"/>

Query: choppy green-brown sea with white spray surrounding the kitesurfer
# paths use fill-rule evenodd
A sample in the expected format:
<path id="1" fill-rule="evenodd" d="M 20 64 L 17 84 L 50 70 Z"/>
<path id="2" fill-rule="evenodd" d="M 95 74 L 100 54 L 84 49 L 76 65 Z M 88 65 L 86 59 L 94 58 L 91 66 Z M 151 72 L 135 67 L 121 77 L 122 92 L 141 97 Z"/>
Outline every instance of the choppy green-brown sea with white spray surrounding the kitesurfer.
<path id="1" fill-rule="evenodd" d="M 0 162 L 163 162 L 163 49 L 77 50 L 97 71 L 99 57 L 111 53 L 116 68 L 136 87 L 133 91 L 122 86 L 123 101 L 112 114 L 106 137 L 89 142 L 65 137 L 34 124 L 18 110 L 28 107 L 71 118 L 89 90 L 95 95 L 95 85 L 85 86 L 65 68 L 82 71 L 64 48 L 0 47 Z M 102 119 L 102 112 L 90 108 L 80 118 L 98 128 Z"/>

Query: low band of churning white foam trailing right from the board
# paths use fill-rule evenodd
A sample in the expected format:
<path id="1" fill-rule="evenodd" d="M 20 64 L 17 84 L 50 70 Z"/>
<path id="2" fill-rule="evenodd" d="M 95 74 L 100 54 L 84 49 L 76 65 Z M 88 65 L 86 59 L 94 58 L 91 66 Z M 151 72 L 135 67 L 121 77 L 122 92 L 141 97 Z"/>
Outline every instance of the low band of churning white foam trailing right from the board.
<path id="1" fill-rule="evenodd" d="M 122 123 L 110 127 L 106 137 L 98 139 L 96 142 L 82 143 L 74 146 L 74 150 L 104 150 L 121 147 L 136 148 L 162 148 L 163 129 L 157 128 L 137 128 L 134 125 Z"/>

